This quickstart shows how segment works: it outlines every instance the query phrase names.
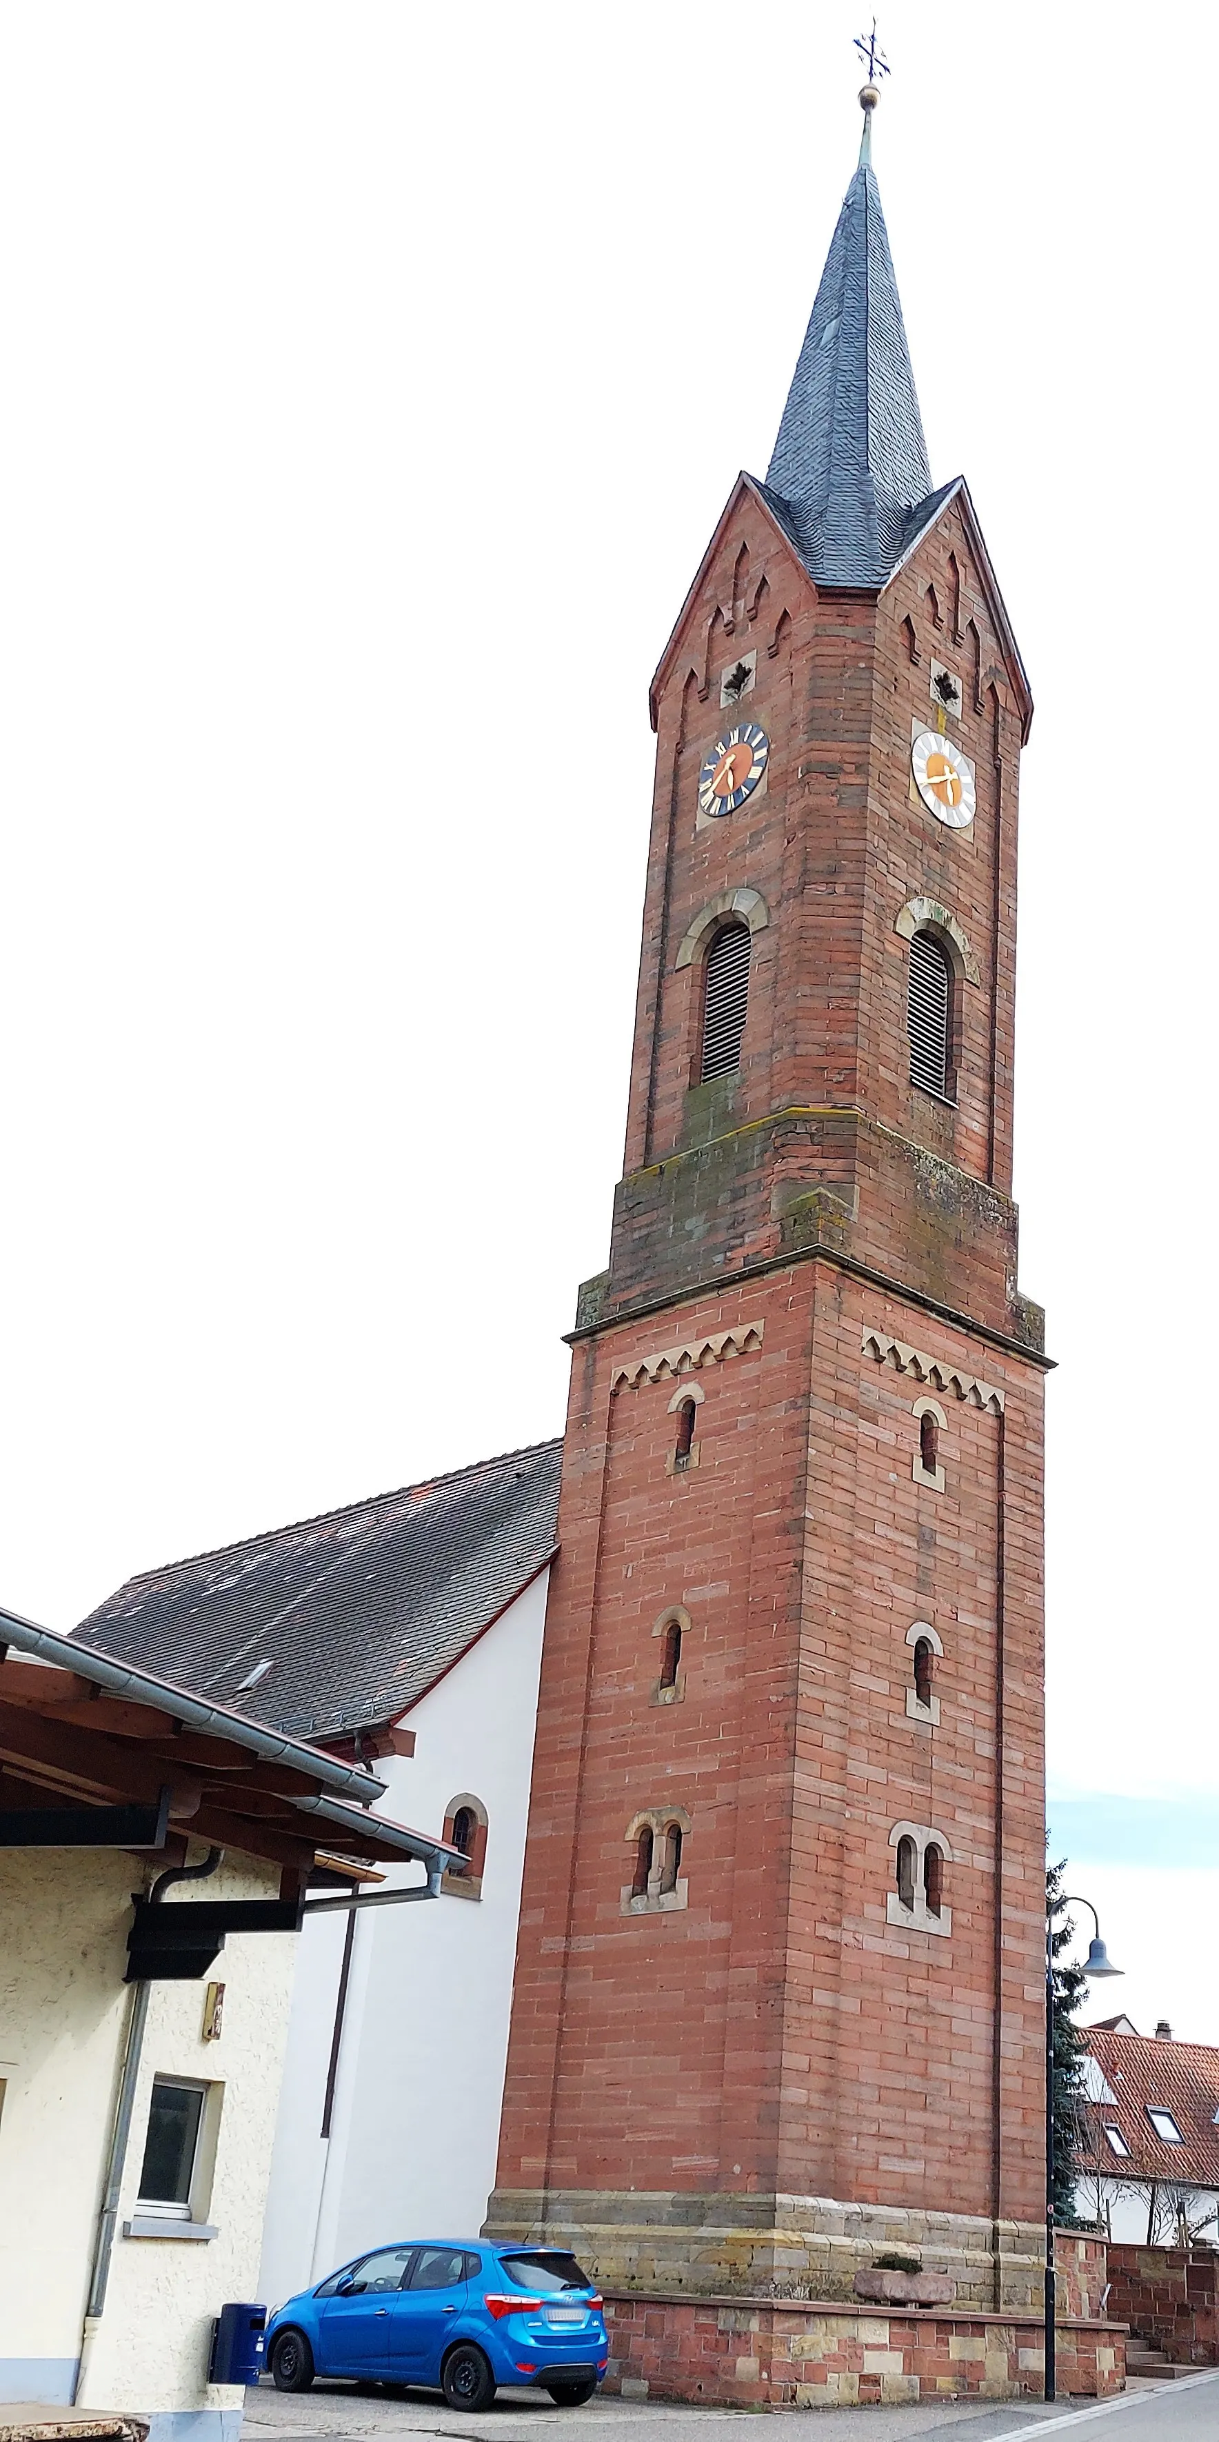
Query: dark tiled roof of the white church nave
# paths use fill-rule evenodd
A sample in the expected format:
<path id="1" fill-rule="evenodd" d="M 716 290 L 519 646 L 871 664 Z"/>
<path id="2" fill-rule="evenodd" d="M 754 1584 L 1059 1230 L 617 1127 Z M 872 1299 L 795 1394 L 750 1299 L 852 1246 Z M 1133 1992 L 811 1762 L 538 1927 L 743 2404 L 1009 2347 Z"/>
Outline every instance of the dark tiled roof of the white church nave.
<path id="1" fill-rule="evenodd" d="M 396 1719 L 555 1548 L 559 1465 L 562 1441 L 542 1441 L 176 1560 L 120 1585 L 76 1636 L 274 1729 Z"/>

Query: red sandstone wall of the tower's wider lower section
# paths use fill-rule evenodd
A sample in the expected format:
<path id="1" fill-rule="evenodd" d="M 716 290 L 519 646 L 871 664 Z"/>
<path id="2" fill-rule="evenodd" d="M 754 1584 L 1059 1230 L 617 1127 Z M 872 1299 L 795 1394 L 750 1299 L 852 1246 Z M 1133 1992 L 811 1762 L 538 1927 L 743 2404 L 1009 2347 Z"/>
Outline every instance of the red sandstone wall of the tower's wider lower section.
<path id="1" fill-rule="evenodd" d="M 691 1377 L 686 1475 L 667 1473 L 674 1377 L 611 1389 L 677 1321 L 574 1358 L 498 2188 L 1036 2222 L 1041 1375 L 818 1260 L 679 1324 L 762 1333 Z M 865 1324 L 1006 1394 L 1002 1419 L 948 1399 L 943 1495 L 911 1477 L 923 1385 L 862 1355 Z M 652 1624 L 672 1602 L 691 1621 L 684 1692 L 660 1707 Z M 906 1712 L 916 1619 L 945 1648 L 936 1729 Z M 628 1824 L 667 1797 L 689 1814 L 689 1905 L 623 1917 Z M 950 1939 L 887 1922 L 899 1819 L 945 1834 Z"/>

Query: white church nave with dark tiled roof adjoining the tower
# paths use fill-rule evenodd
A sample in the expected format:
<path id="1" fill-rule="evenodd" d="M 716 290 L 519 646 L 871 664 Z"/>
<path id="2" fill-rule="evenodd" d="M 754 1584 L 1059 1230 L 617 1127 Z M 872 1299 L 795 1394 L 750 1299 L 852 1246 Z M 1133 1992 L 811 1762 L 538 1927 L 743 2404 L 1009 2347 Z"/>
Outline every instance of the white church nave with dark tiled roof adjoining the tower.
<path id="1" fill-rule="evenodd" d="M 474 2234 L 486 2215 L 559 1455 L 513 1451 L 151 1570 L 78 1631 L 371 1763 L 379 1805 L 469 1858 L 423 1917 L 335 1912 L 300 1937 L 266 2303 L 386 2234 Z"/>

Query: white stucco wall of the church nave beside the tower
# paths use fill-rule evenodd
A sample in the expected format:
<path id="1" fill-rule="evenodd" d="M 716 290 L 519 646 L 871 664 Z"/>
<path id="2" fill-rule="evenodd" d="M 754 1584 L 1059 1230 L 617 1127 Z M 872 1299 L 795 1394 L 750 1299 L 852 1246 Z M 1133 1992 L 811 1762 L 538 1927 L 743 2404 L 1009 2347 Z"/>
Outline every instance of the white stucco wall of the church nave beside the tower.
<path id="1" fill-rule="evenodd" d="M 379 1766 L 384 1812 L 440 1832 L 457 1795 L 489 1814 L 481 1900 L 357 1917 L 330 2142 L 320 2139 L 344 1917 L 300 1937 L 259 2298 L 278 2303 L 396 2237 L 476 2234 L 496 2176 L 530 1802 L 545 1575 L 408 1717 L 415 1756 Z M 406 1868 L 391 1880 L 418 1880 Z"/>

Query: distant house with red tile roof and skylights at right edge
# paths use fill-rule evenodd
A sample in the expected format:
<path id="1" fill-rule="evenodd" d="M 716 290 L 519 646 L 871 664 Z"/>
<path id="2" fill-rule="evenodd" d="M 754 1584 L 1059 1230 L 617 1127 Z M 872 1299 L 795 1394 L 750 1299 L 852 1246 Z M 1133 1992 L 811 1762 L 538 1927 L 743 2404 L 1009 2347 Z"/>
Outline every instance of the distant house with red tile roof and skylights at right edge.
<path id="1" fill-rule="evenodd" d="M 1075 2210 L 1121 2244 L 1219 2237 L 1219 2046 L 1177 2044 L 1165 2020 L 1082 2027 Z"/>

